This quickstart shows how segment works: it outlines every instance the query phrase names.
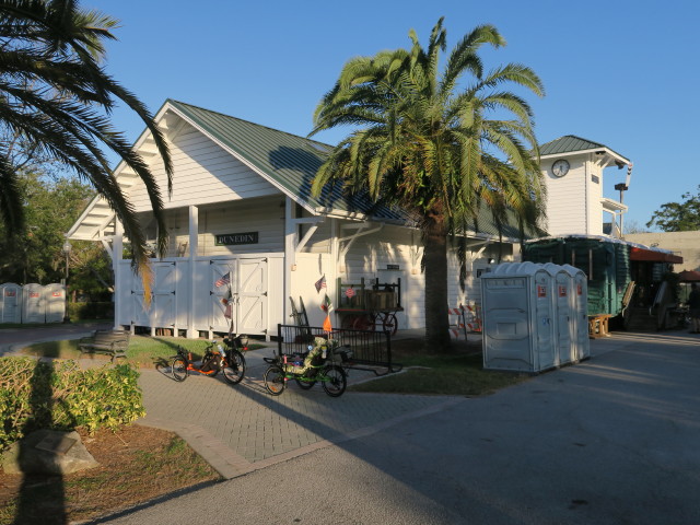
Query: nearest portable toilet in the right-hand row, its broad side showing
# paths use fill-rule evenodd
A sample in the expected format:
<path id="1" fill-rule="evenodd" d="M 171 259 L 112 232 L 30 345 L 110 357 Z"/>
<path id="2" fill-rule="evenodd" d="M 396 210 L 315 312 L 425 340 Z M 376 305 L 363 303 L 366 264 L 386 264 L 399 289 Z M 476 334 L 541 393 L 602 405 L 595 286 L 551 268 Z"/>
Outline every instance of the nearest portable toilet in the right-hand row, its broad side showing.
<path id="1" fill-rule="evenodd" d="M 506 262 L 481 276 L 483 368 L 555 368 L 552 277 L 542 265 Z"/>

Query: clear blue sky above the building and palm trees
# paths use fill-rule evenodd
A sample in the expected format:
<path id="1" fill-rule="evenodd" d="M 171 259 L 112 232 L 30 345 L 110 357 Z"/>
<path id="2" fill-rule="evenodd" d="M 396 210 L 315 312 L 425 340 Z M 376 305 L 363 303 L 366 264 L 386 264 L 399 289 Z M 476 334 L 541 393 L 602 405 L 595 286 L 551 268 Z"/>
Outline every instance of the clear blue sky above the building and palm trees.
<path id="1" fill-rule="evenodd" d="M 153 112 L 166 98 L 305 136 L 316 104 L 357 55 L 422 43 L 445 16 L 447 48 L 476 25 L 509 45 L 487 67 L 532 67 L 547 95 L 528 97 L 540 143 L 564 135 L 602 142 L 634 163 L 626 223 L 697 192 L 700 177 L 700 8 L 691 0 L 259 1 L 83 0 L 120 20 L 107 71 Z M 118 109 L 136 140 L 143 126 Z M 337 131 L 316 137 L 325 142 Z M 625 170 L 606 170 L 606 197 Z"/>

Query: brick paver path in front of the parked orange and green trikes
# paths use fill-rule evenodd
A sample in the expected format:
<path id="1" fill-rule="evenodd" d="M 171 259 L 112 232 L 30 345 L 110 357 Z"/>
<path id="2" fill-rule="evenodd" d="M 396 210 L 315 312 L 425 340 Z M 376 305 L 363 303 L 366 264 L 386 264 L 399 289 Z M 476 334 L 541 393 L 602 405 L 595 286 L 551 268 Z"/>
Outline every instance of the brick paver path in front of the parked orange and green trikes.
<path id="1" fill-rule="evenodd" d="M 293 457 L 300 450 L 308 452 L 311 445 L 341 441 L 455 401 L 353 392 L 331 398 L 319 384 L 302 390 L 294 382 L 275 397 L 265 389 L 264 371 L 262 366 L 248 369 L 238 385 L 196 373 L 177 383 L 166 370 L 142 371 L 139 382 L 147 417 L 141 422 L 177 431 L 220 472 L 232 477 L 275 463 L 275 458 Z M 224 465 L 218 466 L 213 456 Z"/>

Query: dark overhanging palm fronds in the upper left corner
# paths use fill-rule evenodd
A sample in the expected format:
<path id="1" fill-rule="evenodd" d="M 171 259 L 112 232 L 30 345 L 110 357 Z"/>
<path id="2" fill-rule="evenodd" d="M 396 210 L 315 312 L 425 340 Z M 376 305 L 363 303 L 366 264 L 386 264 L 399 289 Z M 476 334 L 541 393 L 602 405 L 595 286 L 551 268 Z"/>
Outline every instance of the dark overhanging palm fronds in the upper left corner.
<path id="1" fill-rule="evenodd" d="M 0 214 L 11 235 L 23 230 L 18 180 L 27 155 L 90 180 L 124 224 L 133 250 L 132 265 L 149 281 L 145 236 L 133 207 L 113 176 L 103 148 L 115 152 L 148 189 L 159 223 L 159 252 L 167 231 L 155 178 L 126 137 L 109 121 L 117 103 L 141 117 L 151 131 L 172 180 L 164 137 L 148 108 L 101 67 L 104 42 L 116 21 L 81 9 L 75 0 L 0 0 Z M 16 151 L 30 143 L 33 151 Z"/>

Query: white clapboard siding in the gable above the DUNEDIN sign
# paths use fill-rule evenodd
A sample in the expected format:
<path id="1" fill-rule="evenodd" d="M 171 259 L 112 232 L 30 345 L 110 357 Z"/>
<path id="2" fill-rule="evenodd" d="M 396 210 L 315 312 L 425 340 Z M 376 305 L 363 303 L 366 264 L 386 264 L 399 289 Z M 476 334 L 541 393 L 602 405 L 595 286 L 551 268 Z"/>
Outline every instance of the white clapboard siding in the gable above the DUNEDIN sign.
<path id="1" fill-rule="evenodd" d="M 151 166 L 161 186 L 165 208 L 279 194 L 260 175 L 191 126 L 184 126 L 177 137 L 171 140 L 174 167 L 171 198 L 166 194 L 165 173 L 158 156 Z M 128 189 L 128 198 L 137 211 L 151 209 L 145 187 L 140 180 Z"/>

